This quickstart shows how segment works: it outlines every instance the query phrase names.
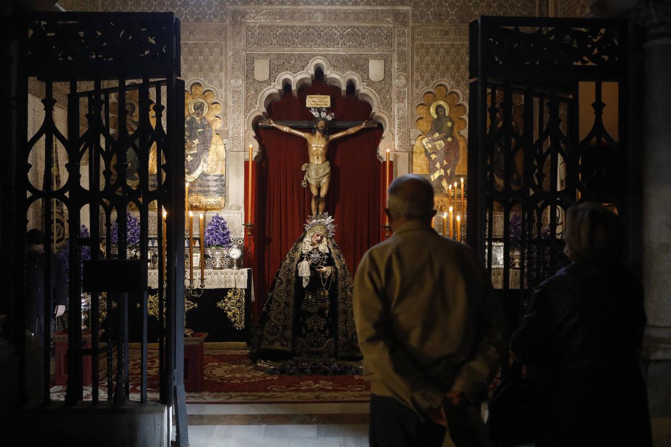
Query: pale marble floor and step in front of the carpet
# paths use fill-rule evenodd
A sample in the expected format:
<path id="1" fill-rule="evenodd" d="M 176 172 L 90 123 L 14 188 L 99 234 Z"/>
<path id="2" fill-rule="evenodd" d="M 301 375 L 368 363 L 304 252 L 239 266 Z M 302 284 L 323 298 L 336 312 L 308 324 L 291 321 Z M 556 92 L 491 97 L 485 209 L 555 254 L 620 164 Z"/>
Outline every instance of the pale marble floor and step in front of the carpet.
<path id="1" fill-rule="evenodd" d="M 368 403 L 197 403 L 187 416 L 192 447 L 368 446 Z"/>

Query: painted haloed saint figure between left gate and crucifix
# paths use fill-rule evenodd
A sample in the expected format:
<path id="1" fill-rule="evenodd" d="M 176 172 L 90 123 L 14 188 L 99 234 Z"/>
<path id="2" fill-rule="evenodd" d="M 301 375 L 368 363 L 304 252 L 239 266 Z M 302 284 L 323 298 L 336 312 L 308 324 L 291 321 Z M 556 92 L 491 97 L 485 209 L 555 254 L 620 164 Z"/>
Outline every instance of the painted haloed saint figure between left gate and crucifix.
<path id="1" fill-rule="evenodd" d="M 207 157 L 212 142 L 212 128 L 205 115 L 209 109 L 202 98 L 189 103 L 189 116 L 184 121 L 185 178 L 193 182 L 203 172 L 207 172 Z"/>

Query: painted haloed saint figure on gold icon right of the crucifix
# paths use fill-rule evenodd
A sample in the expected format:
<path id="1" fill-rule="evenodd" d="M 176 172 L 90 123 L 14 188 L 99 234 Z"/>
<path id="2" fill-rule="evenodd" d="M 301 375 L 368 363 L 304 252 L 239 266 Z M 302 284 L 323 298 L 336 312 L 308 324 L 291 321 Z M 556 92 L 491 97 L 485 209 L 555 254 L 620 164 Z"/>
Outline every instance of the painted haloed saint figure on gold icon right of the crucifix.
<path id="1" fill-rule="evenodd" d="M 422 139 L 424 151 L 429 158 L 431 183 L 438 190 L 448 190 L 459 162 L 459 141 L 454 135 L 454 121 L 448 116 L 450 106 L 445 101 L 431 105 L 431 129 Z"/>

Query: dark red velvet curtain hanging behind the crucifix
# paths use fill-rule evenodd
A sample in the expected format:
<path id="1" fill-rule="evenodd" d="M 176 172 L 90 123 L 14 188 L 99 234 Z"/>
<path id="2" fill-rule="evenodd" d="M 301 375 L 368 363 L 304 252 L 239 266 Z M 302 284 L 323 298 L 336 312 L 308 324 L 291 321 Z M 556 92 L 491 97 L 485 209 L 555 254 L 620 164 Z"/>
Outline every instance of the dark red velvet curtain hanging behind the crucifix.
<path id="1" fill-rule="evenodd" d="M 354 92 L 342 95 L 340 88 L 321 79 L 299 89 L 297 97 L 288 92 L 271 103 L 269 117 L 275 121 L 313 120 L 305 107 L 308 94 L 328 94 L 337 121 L 362 122 L 370 117 L 370 105 L 359 101 Z M 343 129 L 329 132 L 340 130 Z M 309 188 L 301 186 L 305 174 L 301 166 L 308 162 L 307 142 L 277 129 L 258 129 L 257 135 L 262 159 L 255 200 L 258 225 L 254 243 L 255 317 L 266 300 L 280 262 L 303 233 L 303 224 L 310 214 Z M 380 188 L 384 182 L 376 155 L 380 137 L 382 129 L 362 129 L 329 143 L 331 183 L 326 210 L 335 219 L 335 241 L 352 275 L 365 251 L 380 241 Z"/>

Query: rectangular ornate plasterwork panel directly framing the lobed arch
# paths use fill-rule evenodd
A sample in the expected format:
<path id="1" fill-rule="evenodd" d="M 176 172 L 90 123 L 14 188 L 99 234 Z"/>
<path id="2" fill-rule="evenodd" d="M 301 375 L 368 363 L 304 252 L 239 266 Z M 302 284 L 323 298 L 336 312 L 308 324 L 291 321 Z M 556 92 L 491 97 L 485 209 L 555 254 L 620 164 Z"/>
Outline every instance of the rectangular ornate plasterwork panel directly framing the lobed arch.
<path id="1" fill-rule="evenodd" d="M 245 118 L 262 113 L 261 97 L 267 96 L 268 88 L 278 88 L 274 84 L 282 74 L 299 74 L 315 58 L 323 58 L 322 65 L 352 80 L 358 90 L 372 90 L 372 103 L 384 115 L 385 142 L 391 141 L 395 151 L 409 150 L 410 8 L 229 7 L 229 19 L 229 150 L 256 146 L 256 141 L 247 141 L 253 133 Z M 270 60 L 268 80 L 254 79 L 255 58 Z M 368 79 L 370 58 L 385 61 L 385 76 L 379 82 Z"/>

